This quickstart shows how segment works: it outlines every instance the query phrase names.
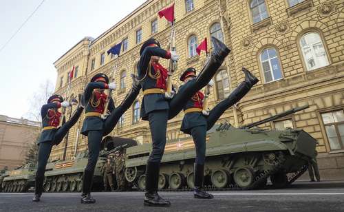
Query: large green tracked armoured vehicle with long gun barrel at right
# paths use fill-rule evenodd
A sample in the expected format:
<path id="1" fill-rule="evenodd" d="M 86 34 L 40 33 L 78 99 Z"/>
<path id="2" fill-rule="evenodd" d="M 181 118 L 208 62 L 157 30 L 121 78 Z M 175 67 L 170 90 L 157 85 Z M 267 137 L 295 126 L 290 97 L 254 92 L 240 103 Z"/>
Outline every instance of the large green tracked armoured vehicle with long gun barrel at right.
<path id="1" fill-rule="evenodd" d="M 259 189 L 265 187 L 268 178 L 273 187 L 281 188 L 297 180 L 316 156 L 316 140 L 302 129 L 266 130 L 257 126 L 306 108 L 290 109 L 241 128 L 222 123 L 209 130 L 204 167 L 208 189 Z M 141 190 L 150 152 L 150 144 L 126 150 L 125 178 Z M 158 188 L 193 188 L 194 160 L 192 138 L 166 144 Z"/>

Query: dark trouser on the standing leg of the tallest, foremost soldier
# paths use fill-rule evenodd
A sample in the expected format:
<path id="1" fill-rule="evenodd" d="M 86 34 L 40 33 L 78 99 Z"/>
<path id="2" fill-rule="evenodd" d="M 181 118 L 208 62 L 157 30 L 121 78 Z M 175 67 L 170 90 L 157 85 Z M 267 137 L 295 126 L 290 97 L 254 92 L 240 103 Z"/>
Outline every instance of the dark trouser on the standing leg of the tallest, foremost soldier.
<path id="1" fill-rule="evenodd" d="M 149 162 L 160 162 L 166 145 L 166 127 L 169 119 L 169 110 L 162 109 L 148 114 L 149 128 L 151 129 L 152 151 Z"/>

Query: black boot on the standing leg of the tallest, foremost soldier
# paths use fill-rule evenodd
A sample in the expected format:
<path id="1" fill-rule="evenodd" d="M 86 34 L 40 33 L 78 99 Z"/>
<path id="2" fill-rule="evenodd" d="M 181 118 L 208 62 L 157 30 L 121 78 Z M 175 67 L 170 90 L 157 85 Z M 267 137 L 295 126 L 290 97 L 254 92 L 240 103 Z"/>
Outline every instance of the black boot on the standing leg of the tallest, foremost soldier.
<path id="1" fill-rule="evenodd" d="M 158 194 L 158 180 L 160 162 L 147 162 L 145 206 L 171 206 L 171 202 L 164 200 Z"/>

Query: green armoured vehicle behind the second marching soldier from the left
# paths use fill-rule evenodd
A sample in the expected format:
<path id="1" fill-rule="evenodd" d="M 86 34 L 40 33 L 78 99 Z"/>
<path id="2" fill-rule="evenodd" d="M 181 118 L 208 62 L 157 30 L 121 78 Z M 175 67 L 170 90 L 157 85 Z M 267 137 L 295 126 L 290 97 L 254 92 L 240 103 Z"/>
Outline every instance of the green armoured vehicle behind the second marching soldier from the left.
<path id="1" fill-rule="evenodd" d="M 100 156 L 94 170 L 92 184 L 93 191 L 103 190 L 103 173 L 101 169 L 107 160 L 107 156 L 118 149 L 127 147 L 127 143 L 135 140 L 119 137 L 104 138 L 102 141 Z M 136 143 L 136 142 L 135 142 Z M 109 150 L 106 151 L 105 149 Z M 45 192 L 81 191 L 83 187 L 83 172 L 87 165 L 87 151 L 77 153 L 75 160 L 50 162 L 45 169 Z"/>

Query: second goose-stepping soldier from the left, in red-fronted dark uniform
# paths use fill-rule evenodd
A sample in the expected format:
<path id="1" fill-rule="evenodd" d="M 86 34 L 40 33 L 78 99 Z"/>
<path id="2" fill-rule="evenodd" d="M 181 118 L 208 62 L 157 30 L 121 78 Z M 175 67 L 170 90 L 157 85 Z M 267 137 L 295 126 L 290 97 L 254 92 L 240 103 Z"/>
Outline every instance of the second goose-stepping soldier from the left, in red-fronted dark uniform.
<path id="1" fill-rule="evenodd" d="M 96 74 L 92 77 L 91 82 L 87 84 L 84 92 L 84 102 L 86 118 L 83 122 L 81 134 L 87 136 L 88 141 L 88 162 L 83 175 L 83 193 L 81 194 L 81 203 L 94 203 L 96 200 L 91 196 L 92 178 L 94 168 L 98 160 L 100 151 L 100 142 L 103 136 L 109 134 L 116 126 L 120 116 L 131 106 L 133 101 L 140 92 L 140 84 L 133 77 L 133 86 L 125 100 L 118 106 L 114 106 L 114 101 L 109 98 L 109 115 L 103 118 L 101 115 L 105 110 L 105 100 L 107 95 L 104 89 L 115 89 L 115 83 L 109 84 L 106 74 Z"/>

